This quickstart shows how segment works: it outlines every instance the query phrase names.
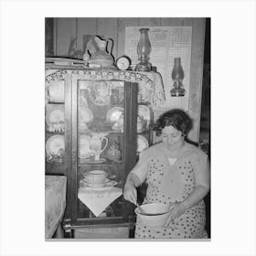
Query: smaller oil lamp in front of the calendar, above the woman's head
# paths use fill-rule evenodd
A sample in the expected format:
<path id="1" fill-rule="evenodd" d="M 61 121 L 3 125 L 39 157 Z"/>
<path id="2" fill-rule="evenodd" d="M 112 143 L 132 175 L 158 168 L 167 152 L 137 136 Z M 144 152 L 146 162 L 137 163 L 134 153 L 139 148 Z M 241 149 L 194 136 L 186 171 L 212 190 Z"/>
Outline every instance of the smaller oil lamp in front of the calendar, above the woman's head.
<path id="1" fill-rule="evenodd" d="M 174 80 L 174 88 L 170 91 L 172 97 L 179 97 L 185 95 L 182 80 L 184 79 L 184 71 L 181 66 L 180 58 L 175 58 L 175 65 L 172 71 L 172 80 Z"/>

